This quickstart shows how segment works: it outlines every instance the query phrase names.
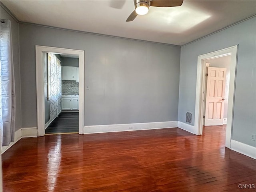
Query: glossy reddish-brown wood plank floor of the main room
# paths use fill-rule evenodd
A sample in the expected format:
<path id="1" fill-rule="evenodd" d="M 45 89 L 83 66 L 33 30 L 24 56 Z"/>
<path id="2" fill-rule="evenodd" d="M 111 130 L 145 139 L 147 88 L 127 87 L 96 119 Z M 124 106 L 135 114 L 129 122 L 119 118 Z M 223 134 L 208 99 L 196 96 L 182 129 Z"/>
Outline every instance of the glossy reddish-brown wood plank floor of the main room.
<path id="1" fill-rule="evenodd" d="M 225 127 L 22 138 L 2 155 L 4 192 L 230 192 L 256 160 L 224 147 Z"/>

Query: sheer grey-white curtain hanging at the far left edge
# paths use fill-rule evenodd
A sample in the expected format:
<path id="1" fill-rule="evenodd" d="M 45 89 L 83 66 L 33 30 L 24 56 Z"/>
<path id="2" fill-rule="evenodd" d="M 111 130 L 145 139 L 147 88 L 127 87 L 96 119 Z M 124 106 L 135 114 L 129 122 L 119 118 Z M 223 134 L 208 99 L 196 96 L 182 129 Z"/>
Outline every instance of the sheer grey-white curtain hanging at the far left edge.
<path id="1" fill-rule="evenodd" d="M 1 19 L 0 45 L 0 131 L 2 146 L 8 146 L 14 141 L 15 131 L 15 86 L 10 20 Z"/>

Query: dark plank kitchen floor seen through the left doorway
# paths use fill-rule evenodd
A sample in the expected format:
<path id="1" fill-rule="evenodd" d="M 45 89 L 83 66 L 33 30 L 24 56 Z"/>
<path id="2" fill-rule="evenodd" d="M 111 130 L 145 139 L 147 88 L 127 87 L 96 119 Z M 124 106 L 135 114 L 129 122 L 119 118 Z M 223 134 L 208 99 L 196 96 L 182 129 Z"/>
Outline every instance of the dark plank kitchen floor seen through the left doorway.
<path id="1" fill-rule="evenodd" d="M 74 133 L 78 132 L 78 112 L 61 112 L 46 128 L 45 133 Z"/>

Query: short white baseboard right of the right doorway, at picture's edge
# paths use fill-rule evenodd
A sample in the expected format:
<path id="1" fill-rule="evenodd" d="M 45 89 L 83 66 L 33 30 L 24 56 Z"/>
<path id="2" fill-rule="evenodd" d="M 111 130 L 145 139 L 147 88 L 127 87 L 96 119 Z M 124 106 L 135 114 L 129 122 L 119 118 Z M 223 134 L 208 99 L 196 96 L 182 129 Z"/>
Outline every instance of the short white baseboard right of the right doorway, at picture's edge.
<path id="1" fill-rule="evenodd" d="M 250 158 L 256 159 L 256 147 L 253 147 L 235 140 L 231 140 L 230 149 L 238 153 L 241 153 L 243 155 L 246 155 Z"/>

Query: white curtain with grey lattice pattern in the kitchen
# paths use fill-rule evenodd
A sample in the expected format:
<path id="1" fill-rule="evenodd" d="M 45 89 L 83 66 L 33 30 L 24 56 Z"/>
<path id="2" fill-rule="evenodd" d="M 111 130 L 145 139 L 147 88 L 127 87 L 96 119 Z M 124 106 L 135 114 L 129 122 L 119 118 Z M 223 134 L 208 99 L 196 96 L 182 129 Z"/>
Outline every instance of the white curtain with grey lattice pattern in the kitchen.
<path id="1" fill-rule="evenodd" d="M 48 53 L 48 84 L 50 97 L 50 119 L 53 120 L 61 112 L 61 66 L 55 54 Z"/>

